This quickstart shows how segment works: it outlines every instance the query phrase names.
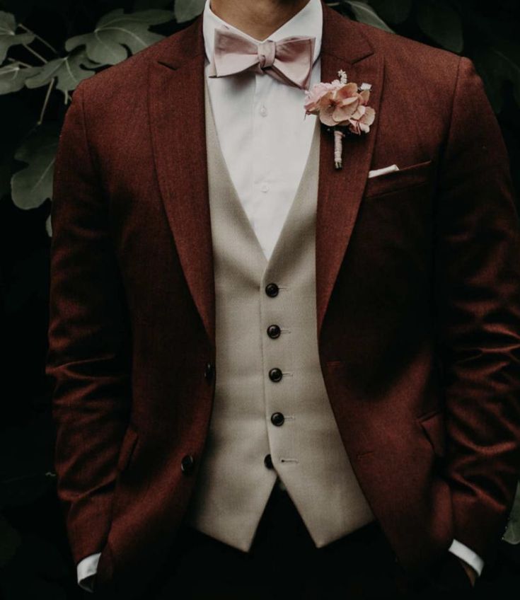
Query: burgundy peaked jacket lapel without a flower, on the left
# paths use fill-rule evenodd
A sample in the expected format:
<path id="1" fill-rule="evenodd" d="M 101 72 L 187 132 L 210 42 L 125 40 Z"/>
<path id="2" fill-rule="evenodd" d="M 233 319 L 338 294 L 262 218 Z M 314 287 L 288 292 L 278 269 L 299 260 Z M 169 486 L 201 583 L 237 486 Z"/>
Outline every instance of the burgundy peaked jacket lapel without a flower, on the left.
<path id="1" fill-rule="evenodd" d="M 202 16 L 159 42 L 149 69 L 151 141 L 161 198 L 187 285 L 215 345 L 204 117 Z"/>

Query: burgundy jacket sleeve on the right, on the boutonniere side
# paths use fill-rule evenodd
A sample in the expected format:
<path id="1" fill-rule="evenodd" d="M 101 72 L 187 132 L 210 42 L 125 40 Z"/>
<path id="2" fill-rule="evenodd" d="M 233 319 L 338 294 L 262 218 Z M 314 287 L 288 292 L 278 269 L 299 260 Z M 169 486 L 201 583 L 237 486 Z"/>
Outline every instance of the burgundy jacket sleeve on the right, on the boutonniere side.
<path id="1" fill-rule="evenodd" d="M 454 537 L 495 556 L 520 471 L 520 233 L 507 149 L 461 58 L 434 219 Z"/>

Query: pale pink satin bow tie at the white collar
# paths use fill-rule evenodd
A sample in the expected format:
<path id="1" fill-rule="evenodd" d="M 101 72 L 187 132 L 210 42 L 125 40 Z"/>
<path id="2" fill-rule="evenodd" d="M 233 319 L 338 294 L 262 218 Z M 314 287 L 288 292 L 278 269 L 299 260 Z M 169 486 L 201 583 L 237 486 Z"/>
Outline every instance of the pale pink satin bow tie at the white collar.
<path id="1" fill-rule="evenodd" d="M 294 35 L 279 42 L 252 42 L 224 28 L 215 29 L 210 77 L 254 71 L 282 83 L 308 90 L 313 66 L 315 37 Z"/>

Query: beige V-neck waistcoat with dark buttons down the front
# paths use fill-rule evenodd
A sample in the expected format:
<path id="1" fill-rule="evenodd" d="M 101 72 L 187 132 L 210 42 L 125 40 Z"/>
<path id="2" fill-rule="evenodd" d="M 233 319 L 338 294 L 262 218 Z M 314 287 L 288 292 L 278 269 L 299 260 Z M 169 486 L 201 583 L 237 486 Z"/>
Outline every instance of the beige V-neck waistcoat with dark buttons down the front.
<path id="1" fill-rule="evenodd" d="M 186 520 L 249 550 L 277 477 L 316 546 L 374 520 L 352 472 L 320 369 L 315 227 L 320 127 L 270 260 L 221 154 L 206 88 L 207 164 L 216 292 L 216 389 Z M 277 296 L 265 287 L 276 283 Z M 267 335 L 279 325 L 279 337 Z M 270 369 L 282 370 L 272 381 Z M 282 425 L 271 415 L 281 412 Z M 265 466 L 270 454 L 274 468 Z"/>

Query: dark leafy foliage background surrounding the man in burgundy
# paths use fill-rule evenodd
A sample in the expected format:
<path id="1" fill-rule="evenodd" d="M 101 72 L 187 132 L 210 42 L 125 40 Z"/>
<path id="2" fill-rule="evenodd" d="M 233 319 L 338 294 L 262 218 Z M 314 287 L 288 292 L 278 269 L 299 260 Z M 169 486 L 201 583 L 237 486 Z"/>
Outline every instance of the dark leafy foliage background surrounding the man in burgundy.
<path id="1" fill-rule="evenodd" d="M 328 4 L 350 18 L 473 59 L 497 113 L 514 184 L 520 189 L 516 0 Z M 54 427 L 44 371 L 52 165 L 64 113 L 80 79 L 183 28 L 202 6 L 204 0 L 0 0 L 0 287 L 5 352 L 0 597 L 6 600 L 83 597 L 55 493 Z M 106 18 L 117 9 L 119 13 Z M 126 33 L 107 25 L 114 18 Z M 96 28 L 105 50 L 92 35 Z M 515 512 L 514 519 L 520 521 L 520 514 Z M 520 544 L 502 542 L 499 560 L 487 565 L 475 596 L 502 597 L 512 589 L 520 590 Z"/>

